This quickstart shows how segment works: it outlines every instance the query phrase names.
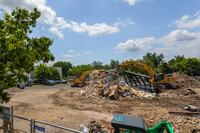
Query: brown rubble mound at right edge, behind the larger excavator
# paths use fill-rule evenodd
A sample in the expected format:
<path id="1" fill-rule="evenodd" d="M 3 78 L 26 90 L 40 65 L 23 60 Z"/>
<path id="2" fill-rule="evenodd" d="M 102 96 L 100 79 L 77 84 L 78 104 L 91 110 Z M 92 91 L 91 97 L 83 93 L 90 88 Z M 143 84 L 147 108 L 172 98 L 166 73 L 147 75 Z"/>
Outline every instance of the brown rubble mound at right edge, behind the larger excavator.
<path id="1" fill-rule="evenodd" d="M 174 73 L 174 76 L 177 77 L 176 85 L 181 88 L 200 88 L 200 82 L 186 74 L 183 73 Z"/>

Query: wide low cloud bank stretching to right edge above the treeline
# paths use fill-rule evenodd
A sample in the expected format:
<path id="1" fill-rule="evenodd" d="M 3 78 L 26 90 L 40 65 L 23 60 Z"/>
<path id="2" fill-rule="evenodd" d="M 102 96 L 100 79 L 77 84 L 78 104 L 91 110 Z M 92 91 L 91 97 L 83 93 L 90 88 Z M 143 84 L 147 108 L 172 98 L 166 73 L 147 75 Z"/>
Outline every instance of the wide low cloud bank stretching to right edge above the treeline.
<path id="1" fill-rule="evenodd" d="M 148 38 L 148 39 L 147 39 Z M 141 41 L 142 40 L 142 41 Z M 141 42 L 143 43 L 141 43 Z M 200 32 L 189 32 L 188 30 L 175 30 L 168 35 L 161 38 L 149 37 L 140 38 L 140 43 L 137 39 L 128 40 L 125 43 L 119 43 L 115 49 L 118 52 L 125 51 L 142 51 L 148 50 L 148 52 L 156 52 L 157 54 L 164 54 L 166 58 L 172 58 L 174 55 L 185 55 L 186 57 L 197 57 L 200 52 Z M 140 45 L 142 44 L 142 45 Z M 152 45 L 157 45 L 155 49 L 148 49 Z M 142 57 L 129 57 L 126 60 L 133 59 L 137 60 Z"/>

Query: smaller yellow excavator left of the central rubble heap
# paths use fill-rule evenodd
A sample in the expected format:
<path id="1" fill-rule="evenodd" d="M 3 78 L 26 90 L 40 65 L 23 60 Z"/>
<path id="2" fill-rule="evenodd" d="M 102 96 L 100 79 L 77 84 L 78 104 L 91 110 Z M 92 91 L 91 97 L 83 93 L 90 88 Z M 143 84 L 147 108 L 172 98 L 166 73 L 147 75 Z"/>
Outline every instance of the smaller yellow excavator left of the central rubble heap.
<path id="1" fill-rule="evenodd" d="M 71 87 L 78 87 L 79 85 L 82 85 L 82 86 L 84 86 L 84 84 L 85 84 L 85 77 L 89 74 L 89 73 L 91 73 L 93 70 L 91 69 L 91 70 L 88 70 L 88 71 L 86 71 L 86 72 L 84 72 L 79 78 L 77 78 L 77 79 L 69 79 L 69 83 L 73 83 L 72 85 L 71 85 Z"/>

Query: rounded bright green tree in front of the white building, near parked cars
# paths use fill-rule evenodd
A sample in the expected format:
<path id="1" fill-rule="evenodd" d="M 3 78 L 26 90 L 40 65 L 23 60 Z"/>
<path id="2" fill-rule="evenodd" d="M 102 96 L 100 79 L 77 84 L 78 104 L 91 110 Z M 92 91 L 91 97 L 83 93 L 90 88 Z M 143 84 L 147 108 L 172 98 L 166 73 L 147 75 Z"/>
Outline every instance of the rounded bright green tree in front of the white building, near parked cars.
<path id="1" fill-rule="evenodd" d="M 45 64 L 38 65 L 34 72 L 34 77 L 36 77 L 39 80 L 50 79 L 52 77 L 51 68 Z"/>

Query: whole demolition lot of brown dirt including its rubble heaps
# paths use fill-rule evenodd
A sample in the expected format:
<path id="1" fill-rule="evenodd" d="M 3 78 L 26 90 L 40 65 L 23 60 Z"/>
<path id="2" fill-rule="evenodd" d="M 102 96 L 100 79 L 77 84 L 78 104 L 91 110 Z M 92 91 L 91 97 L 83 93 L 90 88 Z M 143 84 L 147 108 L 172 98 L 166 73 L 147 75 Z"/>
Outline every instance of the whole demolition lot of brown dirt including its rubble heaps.
<path id="1" fill-rule="evenodd" d="M 199 81 L 182 73 L 173 73 L 177 77 L 177 88 L 156 93 L 151 91 L 148 82 L 142 84 L 143 75 L 125 73 L 124 76 L 94 70 L 89 73 L 84 87 L 63 84 L 24 90 L 11 88 L 8 90 L 12 96 L 9 105 L 14 107 L 15 115 L 77 130 L 82 124 L 87 126 L 91 119 L 109 123 L 114 114 L 121 114 L 144 119 L 148 128 L 166 121 L 177 133 L 200 132 Z M 138 77 L 137 82 L 134 77 Z"/>

